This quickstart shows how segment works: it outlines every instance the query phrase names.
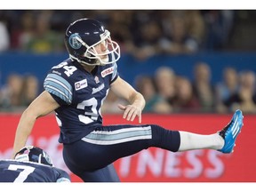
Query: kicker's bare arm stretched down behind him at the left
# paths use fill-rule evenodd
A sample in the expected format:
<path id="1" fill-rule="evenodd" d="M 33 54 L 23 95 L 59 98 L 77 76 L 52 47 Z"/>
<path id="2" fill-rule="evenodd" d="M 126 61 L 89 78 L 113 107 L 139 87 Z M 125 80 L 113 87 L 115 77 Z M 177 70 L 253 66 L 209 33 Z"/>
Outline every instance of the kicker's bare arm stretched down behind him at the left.
<path id="1" fill-rule="evenodd" d="M 20 148 L 26 145 L 36 119 L 40 116 L 46 116 L 59 107 L 60 105 L 52 98 L 52 95 L 46 91 L 42 92 L 36 100 L 28 106 L 20 116 L 20 122 L 16 130 L 13 144 L 12 158 L 14 158 Z"/>

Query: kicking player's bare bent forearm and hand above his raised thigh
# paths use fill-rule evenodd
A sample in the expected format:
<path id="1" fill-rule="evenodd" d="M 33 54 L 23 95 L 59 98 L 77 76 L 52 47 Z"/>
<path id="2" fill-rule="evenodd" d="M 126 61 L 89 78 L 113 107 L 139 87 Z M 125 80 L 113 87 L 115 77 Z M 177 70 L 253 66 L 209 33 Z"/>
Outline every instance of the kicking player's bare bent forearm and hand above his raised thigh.
<path id="1" fill-rule="evenodd" d="M 131 84 L 125 82 L 120 76 L 110 86 L 118 97 L 127 100 L 130 105 L 123 106 L 121 104 L 118 107 L 124 110 L 124 118 L 128 121 L 133 121 L 136 116 L 139 117 L 139 123 L 141 123 L 141 112 L 145 107 L 145 100 L 140 92 L 137 92 Z"/>

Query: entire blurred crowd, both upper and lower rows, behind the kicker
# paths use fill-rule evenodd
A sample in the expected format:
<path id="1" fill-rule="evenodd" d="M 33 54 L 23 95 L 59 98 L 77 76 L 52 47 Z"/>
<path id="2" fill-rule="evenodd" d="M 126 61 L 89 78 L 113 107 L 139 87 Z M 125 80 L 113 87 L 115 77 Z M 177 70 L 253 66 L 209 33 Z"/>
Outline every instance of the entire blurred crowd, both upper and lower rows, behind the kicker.
<path id="1" fill-rule="evenodd" d="M 145 60 L 156 54 L 222 51 L 229 46 L 235 11 L 230 10 L 5 10 L 0 11 L 0 52 L 65 52 L 63 31 L 78 18 L 101 20 L 123 54 Z M 222 79 L 211 83 L 211 68 L 198 62 L 194 81 L 178 76 L 170 67 L 154 76 L 136 76 L 136 89 L 147 105 L 145 113 L 234 112 L 256 113 L 255 74 L 228 67 Z M 164 82 L 164 83 L 163 83 Z M 21 111 L 41 92 L 34 75 L 12 74 L 0 87 L 0 111 Z M 104 113 L 121 113 L 111 92 Z"/>

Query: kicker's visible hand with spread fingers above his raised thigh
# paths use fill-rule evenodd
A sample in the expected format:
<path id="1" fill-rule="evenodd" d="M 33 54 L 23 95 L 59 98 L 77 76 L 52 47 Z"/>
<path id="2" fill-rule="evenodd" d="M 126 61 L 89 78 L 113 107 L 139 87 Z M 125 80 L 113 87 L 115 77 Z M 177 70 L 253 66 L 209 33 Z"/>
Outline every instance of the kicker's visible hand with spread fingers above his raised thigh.
<path id="1" fill-rule="evenodd" d="M 139 117 L 139 123 L 141 124 L 141 109 L 137 108 L 133 105 L 121 105 L 118 104 L 118 108 L 121 110 L 124 110 L 123 118 L 125 118 L 127 121 L 133 121 L 136 116 Z"/>

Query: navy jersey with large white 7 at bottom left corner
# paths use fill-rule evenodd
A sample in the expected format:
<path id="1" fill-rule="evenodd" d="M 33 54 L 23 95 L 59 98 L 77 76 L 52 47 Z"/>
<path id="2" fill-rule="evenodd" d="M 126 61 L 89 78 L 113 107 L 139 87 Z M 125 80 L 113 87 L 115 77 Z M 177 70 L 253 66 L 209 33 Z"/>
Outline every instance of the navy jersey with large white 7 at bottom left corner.
<path id="1" fill-rule="evenodd" d="M 68 172 L 59 168 L 20 162 L 17 160 L 0 160 L 0 182 L 70 182 Z"/>

